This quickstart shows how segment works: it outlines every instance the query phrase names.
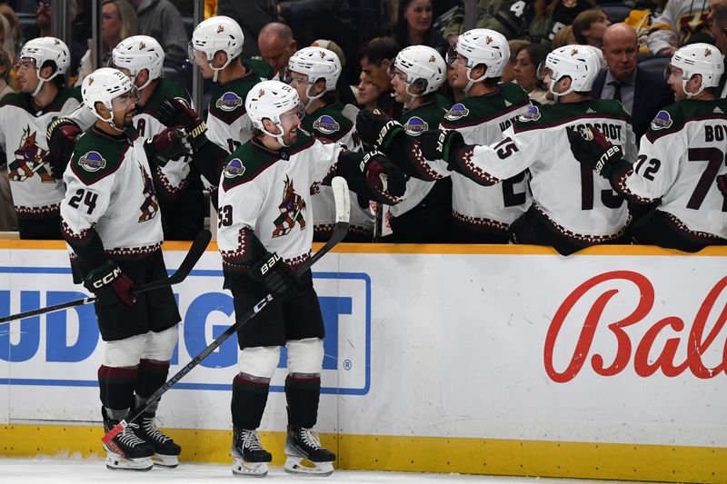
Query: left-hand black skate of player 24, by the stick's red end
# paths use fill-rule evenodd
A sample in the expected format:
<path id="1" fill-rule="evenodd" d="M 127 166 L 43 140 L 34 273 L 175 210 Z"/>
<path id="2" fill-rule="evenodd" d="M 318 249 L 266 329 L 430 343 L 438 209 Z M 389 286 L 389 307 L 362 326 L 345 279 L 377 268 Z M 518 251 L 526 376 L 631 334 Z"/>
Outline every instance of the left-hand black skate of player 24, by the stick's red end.
<path id="1" fill-rule="evenodd" d="M 104 411 L 104 417 L 105 415 Z M 105 431 L 113 429 L 117 423 L 119 420 L 104 418 Z M 138 429 L 138 425 L 130 423 L 123 432 L 109 443 L 104 444 L 108 469 L 149 470 L 154 467 L 151 459 L 154 455 L 154 448 L 139 439 L 135 433 Z"/>

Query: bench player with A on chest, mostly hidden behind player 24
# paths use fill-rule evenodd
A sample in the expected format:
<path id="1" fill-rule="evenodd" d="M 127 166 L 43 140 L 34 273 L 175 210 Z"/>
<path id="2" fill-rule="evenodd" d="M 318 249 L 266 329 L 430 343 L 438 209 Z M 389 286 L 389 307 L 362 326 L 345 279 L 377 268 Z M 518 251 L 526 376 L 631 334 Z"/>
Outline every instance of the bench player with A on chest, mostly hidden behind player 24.
<path id="1" fill-rule="evenodd" d="M 164 51 L 153 37 L 133 35 L 116 44 L 112 51 L 112 64 L 129 76 L 139 91 L 134 129 L 143 140 L 154 138 L 166 128 L 158 120 L 159 107 L 164 100 L 178 98 L 191 103 L 182 85 L 162 77 Z M 82 106 L 48 126 L 47 137 L 51 147 L 48 158 L 55 173 L 65 171 L 75 139 L 95 121 L 94 114 Z M 187 162 L 185 156 L 178 156 L 171 161 L 165 157 L 156 158 L 153 163 L 166 240 L 193 240 L 204 225 L 202 181 L 194 165 Z"/>

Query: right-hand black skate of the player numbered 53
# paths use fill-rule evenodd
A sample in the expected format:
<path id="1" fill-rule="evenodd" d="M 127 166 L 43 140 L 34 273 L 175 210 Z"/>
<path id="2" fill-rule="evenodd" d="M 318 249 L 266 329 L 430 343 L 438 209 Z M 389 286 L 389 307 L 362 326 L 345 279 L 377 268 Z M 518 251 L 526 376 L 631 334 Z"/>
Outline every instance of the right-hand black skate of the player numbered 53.
<path id="1" fill-rule="evenodd" d="M 288 427 L 285 455 L 288 456 L 285 472 L 314 476 L 330 476 L 334 473 L 335 454 L 321 447 L 318 433 L 312 429 Z M 304 463 L 303 460 L 308 462 Z"/>

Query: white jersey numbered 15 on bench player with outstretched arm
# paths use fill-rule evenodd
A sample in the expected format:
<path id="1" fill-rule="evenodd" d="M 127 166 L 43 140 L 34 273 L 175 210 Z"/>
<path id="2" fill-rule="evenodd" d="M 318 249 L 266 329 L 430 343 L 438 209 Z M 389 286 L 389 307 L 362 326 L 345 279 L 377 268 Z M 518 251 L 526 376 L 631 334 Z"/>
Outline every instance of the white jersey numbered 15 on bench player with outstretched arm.
<path id="1" fill-rule="evenodd" d="M 533 106 L 490 146 L 474 146 L 463 171 L 483 183 L 498 183 L 530 170 L 533 208 L 563 235 L 584 242 L 603 242 L 622 232 L 628 220 L 626 202 L 590 167 L 573 157 L 567 129 L 585 124 L 600 129 L 622 146 L 632 162 L 635 139 L 629 114 L 611 99 Z M 496 186 L 496 185 L 495 185 Z"/>

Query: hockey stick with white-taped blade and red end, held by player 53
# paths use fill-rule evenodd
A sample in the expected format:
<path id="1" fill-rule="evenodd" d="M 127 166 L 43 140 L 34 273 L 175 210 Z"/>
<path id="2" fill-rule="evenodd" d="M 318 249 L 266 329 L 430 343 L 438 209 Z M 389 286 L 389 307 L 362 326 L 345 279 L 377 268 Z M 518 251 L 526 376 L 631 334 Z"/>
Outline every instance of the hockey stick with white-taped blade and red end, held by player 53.
<path id="1" fill-rule="evenodd" d="M 348 220 L 351 212 L 350 198 L 348 194 L 348 184 L 346 183 L 344 178 L 336 176 L 331 182 L 331 185 L 334 188 L 335 199 L 334 232 L 333 234 L 331 234 L 331 238 L 328 240 L 328 242 L 325 242 L 325 245 L 318 252 L 315 252 L 313 257 L 298 266 L 298 269 L 295 271 L 295 275 L 298 277 L 302 276 L 305 272 L 307 272 L 315 262 L 318 262 L 321 257 L 323 257 L 331 249 L 333 249 L 338 242 L 343 241 L 346 233 L 348 233 Z M 227 338 L 229 338 L 235 332 L 237 332 L 237 330 L 242 328 L 247 321 L 252 320 L 258 312 L 262 311 L 263 308 L 267 306 L 270 301 L 273 301 L 272 294 L 266 295 L 264 299 L 255 304 L 251 309 L 247 310 L 241 316 L 235 318 L 237 321 L 235 321 L 232 326 L 227 328 L 221 335 L 219 335 L 214 341 L 212 341 L 209 346 L 207 346 L 201 353 L 195 356 L 192 361 L 187 363 L 182 370 L 177 371 L 172 378 L 170 378 L 166 383 L 164 383 L 164 385 L 162 385 L 161 388 L 159 388 L 159 390 L 154 391 L 154 393 L 148 399 L 144 400 L 144 402 L 139 407 L 132 410 L 124 420 L 121 420 L 114 426 L 114 428 L 106 432 L 105 436 L 101 440 L 103 440 L 105 444 L 111 442 L 111 440 L 113 440 L 118 434 L 120 434 L 127 425 L 138 419 L 139 416 L 144 413 L 144 410 L 151 407 L 156 400 L 162 398 L 162 395 L 164 395 L 167 390 L 174 387 L 177 381 L 182 380 L 184 378 L 184 375 L 189 373 L 191 370 L 194 369 L 195 366 L 197 366 L 201 361 L 207 358 L 207 356 L 211 352 L 216 350 L 225 340 L 227 340 Z"/>

